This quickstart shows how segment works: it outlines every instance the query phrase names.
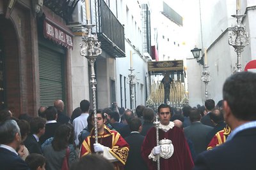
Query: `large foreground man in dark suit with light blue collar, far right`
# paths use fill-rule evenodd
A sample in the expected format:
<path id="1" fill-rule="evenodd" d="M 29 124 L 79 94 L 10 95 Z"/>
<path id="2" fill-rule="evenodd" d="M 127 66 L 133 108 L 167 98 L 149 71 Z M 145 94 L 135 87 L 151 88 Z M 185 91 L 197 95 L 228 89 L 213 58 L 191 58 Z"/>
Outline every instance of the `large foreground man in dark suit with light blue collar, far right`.
<path id="1" fill-rule="evenodd" d="M 232 132 L 220 146 L 203 152 L 195 169 L 256 169 L 256 73 L 233 74 L 223 85 L 224 118 Z"/>

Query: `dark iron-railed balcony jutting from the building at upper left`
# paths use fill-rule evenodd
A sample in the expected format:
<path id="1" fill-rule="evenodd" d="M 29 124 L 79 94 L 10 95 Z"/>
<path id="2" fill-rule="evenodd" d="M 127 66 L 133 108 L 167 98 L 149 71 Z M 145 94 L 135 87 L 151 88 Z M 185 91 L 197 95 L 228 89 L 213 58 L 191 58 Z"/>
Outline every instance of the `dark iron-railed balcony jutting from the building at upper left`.
<path id="1" fill-rule="evenodd" d="M 102 50 L 111 55 L 111 57 L 125 57 L 123 25 L 120 24 L 103 0 L 98 1 L 94 7 L 91 10 L 92 22 L 95 20 L 93 24 L 96 24 L 97 36 Z"/>

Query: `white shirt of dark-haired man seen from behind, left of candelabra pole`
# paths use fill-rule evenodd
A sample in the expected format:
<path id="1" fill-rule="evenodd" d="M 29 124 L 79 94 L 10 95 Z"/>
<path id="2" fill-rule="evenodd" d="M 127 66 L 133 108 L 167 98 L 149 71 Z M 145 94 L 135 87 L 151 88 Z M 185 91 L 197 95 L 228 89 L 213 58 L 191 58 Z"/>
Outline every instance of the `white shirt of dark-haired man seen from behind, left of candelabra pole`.
<path id="1" fill-rule="evenodd" d="M 79 145 L 79 139 L 78 135 L 83 129 L 87 126 L 87 118 L 89 117 L 88 113 L 82 113 L 79 117 L 75 118 L 73 120 L 73 126 L 74 126 L 74 134 L 75 134 L 75 143 L 76 145 Z"/>

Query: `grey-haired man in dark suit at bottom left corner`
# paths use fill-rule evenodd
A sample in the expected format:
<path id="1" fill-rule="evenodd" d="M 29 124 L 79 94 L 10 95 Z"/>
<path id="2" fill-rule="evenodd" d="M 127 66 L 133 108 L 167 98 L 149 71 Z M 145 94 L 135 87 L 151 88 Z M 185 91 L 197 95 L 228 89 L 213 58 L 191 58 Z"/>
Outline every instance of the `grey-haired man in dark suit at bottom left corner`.
<path id="1" fill-rule="evenodd" d="M 20 129 L 15 120 L 6 120 L 0 124 L 0 169 L 29 170 L 16 150 L 21 143 Z"/>

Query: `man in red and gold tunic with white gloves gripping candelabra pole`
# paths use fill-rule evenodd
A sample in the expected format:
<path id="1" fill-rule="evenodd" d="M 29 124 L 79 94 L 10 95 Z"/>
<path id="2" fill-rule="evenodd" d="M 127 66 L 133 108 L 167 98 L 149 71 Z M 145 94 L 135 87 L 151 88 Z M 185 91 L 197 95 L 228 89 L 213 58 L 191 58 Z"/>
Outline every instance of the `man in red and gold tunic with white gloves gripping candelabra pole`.
<path id="1" fill-rule="evenodd" d="M 94 118 L 92 117 L 92 120 Z M 94 121 L 92 121 L 94 124 Z M 97 113 L 98 143 L 95 143 L 95 132 L 92 129 L 90 136 L 84 139 L 80 157 L 89 153 L 101 152 L 103 157 L 113 162 L 115 169 L 124 169 L 129 153 L 128 143 L 116 131 L 111 131 L 104 125 L 106 118 L 104 113 Z"/>

